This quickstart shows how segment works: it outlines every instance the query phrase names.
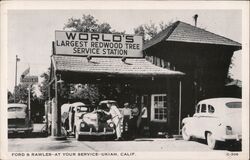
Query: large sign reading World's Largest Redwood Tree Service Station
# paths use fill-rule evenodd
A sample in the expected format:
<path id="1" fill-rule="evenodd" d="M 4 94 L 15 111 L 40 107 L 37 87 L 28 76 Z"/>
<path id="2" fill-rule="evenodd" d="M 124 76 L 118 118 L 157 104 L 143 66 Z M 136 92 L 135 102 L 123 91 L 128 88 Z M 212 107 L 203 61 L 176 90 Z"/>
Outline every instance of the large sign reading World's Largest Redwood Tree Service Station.
<path id="1" fill-rule="evenodd" d="M 142 57 L 142 36 L 55 32 L 55 53 L 108 57 Z"/>

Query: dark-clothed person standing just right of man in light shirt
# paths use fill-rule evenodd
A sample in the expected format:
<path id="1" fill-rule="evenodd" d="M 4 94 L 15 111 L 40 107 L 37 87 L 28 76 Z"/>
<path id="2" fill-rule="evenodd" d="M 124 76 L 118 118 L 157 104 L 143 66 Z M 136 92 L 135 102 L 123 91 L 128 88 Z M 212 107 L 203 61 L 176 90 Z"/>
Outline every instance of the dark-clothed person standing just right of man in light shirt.
<path id="1" fill-rule="evenodd" d="M 132 105 L 131 115 L 132 118 L 130 119 L 129 126 L 131 128 L 131 138 L 134 139 L 137 136 L 137 118 L 139 115 L 139 109 L 135 104 Z"/>

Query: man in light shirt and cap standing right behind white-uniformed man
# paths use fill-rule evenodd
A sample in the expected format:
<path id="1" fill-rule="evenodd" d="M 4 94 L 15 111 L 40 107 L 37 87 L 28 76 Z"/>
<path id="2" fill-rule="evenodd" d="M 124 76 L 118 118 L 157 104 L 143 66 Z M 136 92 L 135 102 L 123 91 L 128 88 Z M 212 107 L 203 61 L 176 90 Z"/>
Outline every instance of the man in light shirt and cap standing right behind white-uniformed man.
<path id="1" fill-rule="evenodd" d="M 129 138 L 131 136 L 131 128 L 129 121 L 132 118 L 131 108 L 129 108 L 129 103 L 124 103 L 124 108 L 122 109 L 123 115 L 123 136 Z"/>

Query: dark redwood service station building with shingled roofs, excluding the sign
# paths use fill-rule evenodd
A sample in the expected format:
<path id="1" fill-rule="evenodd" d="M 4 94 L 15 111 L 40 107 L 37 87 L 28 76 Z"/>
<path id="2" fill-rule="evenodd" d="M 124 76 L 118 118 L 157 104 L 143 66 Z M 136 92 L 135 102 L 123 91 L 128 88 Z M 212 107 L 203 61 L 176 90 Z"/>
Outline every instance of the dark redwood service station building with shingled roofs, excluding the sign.
<path id="1" fill-rule="evenodd" d="M 59 78 L 64 83 L 128 87 L 127 100 L 148 108 L 145 135 L 179 134 L 181 119 L 193 114 L 199 100 L 224 96 L 231 58 L 239 49 L 238 42 L 177 21 L 143 45 L 143 57 L 90 58 L 54 53 L 50 95 L 55 97 L 57 122 L 53 123 L 52 135 L 61 134 Z M 120 105 L 125 102 L 119 97 L 113 100 Z"/>

